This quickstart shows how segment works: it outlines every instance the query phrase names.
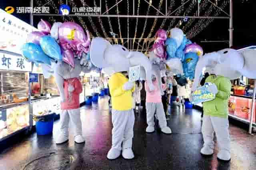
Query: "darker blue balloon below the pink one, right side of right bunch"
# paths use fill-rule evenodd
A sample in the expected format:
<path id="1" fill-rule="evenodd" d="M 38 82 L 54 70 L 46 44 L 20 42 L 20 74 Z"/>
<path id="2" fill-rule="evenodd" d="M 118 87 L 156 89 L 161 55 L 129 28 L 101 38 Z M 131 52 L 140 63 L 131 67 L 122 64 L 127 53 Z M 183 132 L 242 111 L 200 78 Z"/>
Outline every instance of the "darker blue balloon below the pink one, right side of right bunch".
<path id="1" fill-rule="evenodd" d="M 183 71 L 185 73 L 185 76 L 190 80 L 194 79 L 198 59 L 199 56 L 194 52 L 189 52 L 185 54 L 183 62 Z"/>

